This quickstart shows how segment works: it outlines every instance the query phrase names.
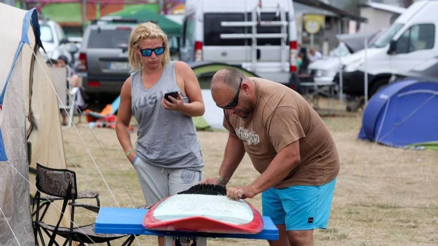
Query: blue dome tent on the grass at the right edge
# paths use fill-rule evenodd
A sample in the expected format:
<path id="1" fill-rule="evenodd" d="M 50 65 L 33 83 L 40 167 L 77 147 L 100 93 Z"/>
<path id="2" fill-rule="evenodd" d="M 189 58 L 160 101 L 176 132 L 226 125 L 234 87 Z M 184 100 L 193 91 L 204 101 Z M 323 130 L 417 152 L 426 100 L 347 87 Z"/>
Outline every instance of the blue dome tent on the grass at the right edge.
<path id="1" fill-rule="evenodd" d="M 394 147 L 438 141 L 437 119 L 438 82 L 395 82 L 369 101 L 359 138 Z"/>

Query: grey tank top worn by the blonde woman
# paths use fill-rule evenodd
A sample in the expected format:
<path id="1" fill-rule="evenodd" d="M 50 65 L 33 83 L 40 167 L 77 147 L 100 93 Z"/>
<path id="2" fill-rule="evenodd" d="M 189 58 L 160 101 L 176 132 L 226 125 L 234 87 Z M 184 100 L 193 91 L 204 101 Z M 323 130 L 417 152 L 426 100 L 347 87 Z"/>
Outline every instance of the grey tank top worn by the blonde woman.
<path id="1" fill-rule="evenodd" d="M 137 156 L 154 166 L 201 170 L 204 161 L 192 117 L 161 106 L 164 94 L 174 90 L 181 92 L 173 61 L 151 88 L 144 88 L 141 70 L 131 74 L 131 109 L 139 124 Z M 183 100 L 189 102 L 186 95 Z"/>

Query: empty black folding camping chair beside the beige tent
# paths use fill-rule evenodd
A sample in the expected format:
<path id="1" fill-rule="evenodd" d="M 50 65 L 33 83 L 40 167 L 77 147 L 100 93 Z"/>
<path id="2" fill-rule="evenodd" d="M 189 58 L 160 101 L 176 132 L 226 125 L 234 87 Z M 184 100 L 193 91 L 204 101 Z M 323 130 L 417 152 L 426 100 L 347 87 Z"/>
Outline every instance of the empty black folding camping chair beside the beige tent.
<path id="1" fill-rule="evenodd" d="M 76 227 L 76 225 L 74 225 L 76 207 L 86 208 L 96 213 L 98 213 L 100 209 L 99 206 L 76 202 L 76 199 L 78 199 L 78 192 L 76 173 L 74 171 L 68 169 L 49 168 L 40 164 L 36 164 L 36 173 L 36 187 L 38 190 L 34 198 L 34 201 L 36 202 L 36 210 L 35 220 L 33 221 L 36 245 L 39 245 L 38 236 L 42 245 L 46 245 L 42 232 L 44 232 L 50 238 L 48 246 L 52 246 L 53 244 L 59 246 L 59 244 L 55 242 L 56 236 L 66 239 L 62 244 L 63 246 L 67 245 L 67 243 L 69 243 L 69 246 L 71 246 L 72 241 L 79 242 L 79 246 L 105 242 L 110 245 L 110 241 L 126 236 L 129 237 L 123 242 L 122 246 L 131 245 L 134 240 L 134 235 L 95 234 L 94 223 L 80 227 Z M 43 209 L 44 212 L 47 210 L 47 205 L 44 205 L 44 202 L 47 201 L 45 198 L 47 195 L 42 196 L 41 192 L 49 195 L 49 197 L 58 197 L 59 199 L 63 200 L 61 214 L 56 226 L 47 225 L 41 220 L 40 213 L 43 212 Z M 64 212 L 66 211 L 67 205 L 71 206 L 70 227 L 60 227 L 60 223 Z"/>

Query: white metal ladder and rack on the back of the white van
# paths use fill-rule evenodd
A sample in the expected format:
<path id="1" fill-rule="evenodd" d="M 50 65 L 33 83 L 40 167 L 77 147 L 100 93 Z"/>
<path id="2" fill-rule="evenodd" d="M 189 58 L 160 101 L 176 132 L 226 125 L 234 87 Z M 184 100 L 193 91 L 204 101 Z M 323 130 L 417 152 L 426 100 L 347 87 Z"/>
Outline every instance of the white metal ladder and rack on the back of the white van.
<path id="1" fill-rule="evenodd" d="M 223 39 L 251 39 L 251 72 L 257 73 L 257 39 L 258 38 L 280 38 L 280 54 L 281 54 L 281 67 L 285 72 L 289 72 L 289 66 L 286 61 L 286 43 L 287 43 L 287 26 L 286 10 L 280 8 L 277 4 L 276 7 L 261 7 L 259 2 L 258 6 L 252 10 L 251 21 L 221 21 L 221 26 L 227 27 L 251 27 L 251 33 L 221 33 L 220 38 Z M 280 17 L 279 21 L 262 21 L 261 13 L 263 12 L 275 12 Z M 290 16 L 291 17 L 291 16 Z M 280 26 L 280 33 L 257 33 L 257 27 L 263 26 Z"/>

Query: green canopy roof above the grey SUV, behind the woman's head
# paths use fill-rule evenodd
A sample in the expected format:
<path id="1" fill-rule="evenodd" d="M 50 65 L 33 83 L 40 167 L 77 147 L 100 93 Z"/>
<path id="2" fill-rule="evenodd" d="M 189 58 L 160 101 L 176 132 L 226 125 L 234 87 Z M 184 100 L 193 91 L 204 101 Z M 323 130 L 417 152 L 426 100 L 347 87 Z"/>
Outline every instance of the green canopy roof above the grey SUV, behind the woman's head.
<path id="1" fill-rule="evenodd" d="M 156 23 L 167 35 L 180 36 L 182 33 L 182 27 L 179 23 L 161 14 L 150 11 L 141 4 L 125 7 L 123 10 L 113 12 L 109 15 L 137 19 L 138 22 L 152 21 Z"/>

